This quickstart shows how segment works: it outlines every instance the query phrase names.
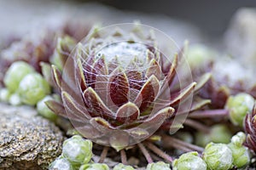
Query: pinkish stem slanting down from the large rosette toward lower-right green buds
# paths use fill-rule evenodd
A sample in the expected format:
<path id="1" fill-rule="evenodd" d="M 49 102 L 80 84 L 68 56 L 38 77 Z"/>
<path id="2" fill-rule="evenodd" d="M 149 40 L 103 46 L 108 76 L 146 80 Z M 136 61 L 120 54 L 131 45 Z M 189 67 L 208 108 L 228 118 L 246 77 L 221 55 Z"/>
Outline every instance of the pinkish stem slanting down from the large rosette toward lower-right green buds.
<path id="1" fill-rule="evenodd" d="M 172 147 L 175 147 L 175 148 L 177 148 L 179 150 L 183 150 L 183 151 L 195 150 L 195 151 L 198 151 L 201 153 L 204 150 L 203 148 L 201 148 L 195 144 L 189 144 L 187 142 L 183 142 L 180 139 L 172 138 L 171 136 L 168 136 L 168 135 L 164 135 L 162 137 L 162 141 L 163 141 L 163 144 L 166 145 L 167 147 L 172 146 Z"/>

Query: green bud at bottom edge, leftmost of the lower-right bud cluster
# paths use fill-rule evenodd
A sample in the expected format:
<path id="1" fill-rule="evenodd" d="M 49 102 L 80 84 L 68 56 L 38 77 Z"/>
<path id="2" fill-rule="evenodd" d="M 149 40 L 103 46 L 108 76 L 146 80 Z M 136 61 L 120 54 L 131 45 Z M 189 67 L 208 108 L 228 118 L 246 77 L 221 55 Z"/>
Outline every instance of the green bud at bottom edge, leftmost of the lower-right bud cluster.
<path id="1" fill-rule="evenodd" d="M 207 170 L 207 163 L 197 152 L 183 154 L 172 163 L 173 170 Z"/>

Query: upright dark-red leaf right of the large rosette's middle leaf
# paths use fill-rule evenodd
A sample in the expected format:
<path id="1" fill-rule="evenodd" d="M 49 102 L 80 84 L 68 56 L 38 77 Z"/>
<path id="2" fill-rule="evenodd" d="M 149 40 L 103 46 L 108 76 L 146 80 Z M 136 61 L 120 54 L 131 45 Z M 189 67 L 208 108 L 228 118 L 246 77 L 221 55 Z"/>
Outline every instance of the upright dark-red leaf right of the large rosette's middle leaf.
<path id="1" fill-rule="evenodd" d="M 148 115 L 152 111 L 154 100 L 159 93 L 160 82 L 157 78 L 152 75 L 148 78 L 148 81 L 145 82 L 140 93 L 137 95 L 134 103 L 139 106 L 141 114 Z M 145 112 L 144 112 L 145 111 Z"/>

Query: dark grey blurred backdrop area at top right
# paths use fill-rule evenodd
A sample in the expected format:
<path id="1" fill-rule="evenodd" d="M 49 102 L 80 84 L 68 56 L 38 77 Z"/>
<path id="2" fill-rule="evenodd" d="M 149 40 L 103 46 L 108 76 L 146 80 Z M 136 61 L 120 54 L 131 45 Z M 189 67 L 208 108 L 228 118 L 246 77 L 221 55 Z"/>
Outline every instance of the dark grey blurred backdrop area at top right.
<path id="1" fill-rule="evenodd" d="M 198 26 L 212 37 L 221 36 L 230 24 L 230 19 L 241 7 L 256 7 L 253 0 L 150 0 L 150 1 L 102 1 L 121 10 L 139 11 L 146 14 L 166 14 Z M 256 20 L 256 19 L 255 19 Z"/>

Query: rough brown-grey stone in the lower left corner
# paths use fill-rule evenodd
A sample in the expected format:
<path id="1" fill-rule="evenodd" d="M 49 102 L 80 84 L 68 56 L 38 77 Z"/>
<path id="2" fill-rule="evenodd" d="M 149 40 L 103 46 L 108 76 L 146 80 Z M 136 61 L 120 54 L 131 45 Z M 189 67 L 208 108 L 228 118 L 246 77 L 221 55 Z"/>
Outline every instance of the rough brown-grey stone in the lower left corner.
<path id="1" fill-rule="evenodd" d="M 30 107 L 0 108 L 0 170 L 47 169 L 61 154 L 60 129 Z"/>

